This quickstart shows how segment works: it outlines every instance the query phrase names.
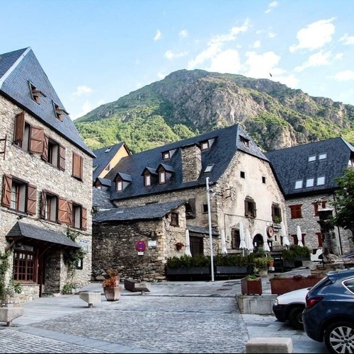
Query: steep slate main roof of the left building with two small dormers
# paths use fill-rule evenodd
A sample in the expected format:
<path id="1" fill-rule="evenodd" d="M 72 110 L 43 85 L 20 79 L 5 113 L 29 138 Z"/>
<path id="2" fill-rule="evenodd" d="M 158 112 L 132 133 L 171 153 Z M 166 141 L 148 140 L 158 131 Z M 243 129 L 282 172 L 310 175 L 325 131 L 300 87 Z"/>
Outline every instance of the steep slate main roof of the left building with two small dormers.
<path id="1" fill-rule="evenodd" d="M 52 102 L 54 101 L 63 109 L 64 105 L 30 47 L 0 54 L 0 58 L 0 92 L 59 135 L 68 139 L 83 152 L 94 157 L 69 115 L 63 114 L 62 121 L 55 115 Z M 45 93 L 46 97 L 40 97 L 40 104 L 33 101 L 28 81 L 36 89 Z"/>

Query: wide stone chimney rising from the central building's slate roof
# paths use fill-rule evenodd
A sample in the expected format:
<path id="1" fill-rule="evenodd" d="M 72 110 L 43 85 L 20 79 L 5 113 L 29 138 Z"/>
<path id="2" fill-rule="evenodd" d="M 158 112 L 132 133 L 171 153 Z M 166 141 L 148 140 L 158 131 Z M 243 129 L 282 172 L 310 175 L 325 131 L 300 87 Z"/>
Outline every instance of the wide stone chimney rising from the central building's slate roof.
<path id="1" fill-rule="evenodd" d="M 187 145 L 182 149 L 182 181 L 190 182 L 199 178 L 202 171 L 202 154 L 198 144 Z"/>

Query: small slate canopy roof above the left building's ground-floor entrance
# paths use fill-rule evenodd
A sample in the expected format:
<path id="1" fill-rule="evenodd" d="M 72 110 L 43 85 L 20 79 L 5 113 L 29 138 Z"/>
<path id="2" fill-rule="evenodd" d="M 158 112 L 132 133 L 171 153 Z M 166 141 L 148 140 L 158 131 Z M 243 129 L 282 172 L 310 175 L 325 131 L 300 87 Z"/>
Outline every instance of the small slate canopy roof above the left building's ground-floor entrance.
<path id="1" fill-rule="evenodd" d="M 26 224 L 25 222 L 16 222 L 16 224 L 13 225 L 6 237 L 11 238 L 13 236 L 23 236 L 35 241 L 50 242 L 51 244 L 80 248 L 79 244 L 76 244 L 62 232 L 48 230 L 44 227 Z"/>

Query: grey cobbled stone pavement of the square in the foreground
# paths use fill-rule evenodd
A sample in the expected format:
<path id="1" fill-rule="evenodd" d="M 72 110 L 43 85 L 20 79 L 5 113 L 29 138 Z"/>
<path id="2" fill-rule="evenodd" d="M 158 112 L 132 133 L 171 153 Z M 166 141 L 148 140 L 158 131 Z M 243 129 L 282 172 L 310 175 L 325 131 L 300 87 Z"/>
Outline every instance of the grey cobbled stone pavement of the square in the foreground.
<path id="1" fill-rule="evenodd" d="M 270 294 L 268 277 L 262 283 Z M 0 353 L 245 353 L 250 338 L 274 336 L 292 338 L 293 353 L 329 353 L 274 316 L 241 315 L 239 279 L 156 282 L 145 295 L 122 287 L 115 302 L 105 300 L 101 282 L 82 288 L 101 292 L 93 308 L 79 295 L 23 304 L 13 326 L 0 323 Z"/>

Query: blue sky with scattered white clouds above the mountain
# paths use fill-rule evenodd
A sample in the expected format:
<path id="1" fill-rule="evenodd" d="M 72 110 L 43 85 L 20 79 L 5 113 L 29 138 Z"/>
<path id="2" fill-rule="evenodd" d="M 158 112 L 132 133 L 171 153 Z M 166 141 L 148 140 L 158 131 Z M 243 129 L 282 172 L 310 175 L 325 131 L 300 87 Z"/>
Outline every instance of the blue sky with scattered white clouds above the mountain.
<path id="1" fill-rule="evenodd" d="M 179 69 L 271 79 L 354 105 L 353 0 L 0 0 L 0 8 L 0 52 L 31 47 L 72 119 Z"/>

